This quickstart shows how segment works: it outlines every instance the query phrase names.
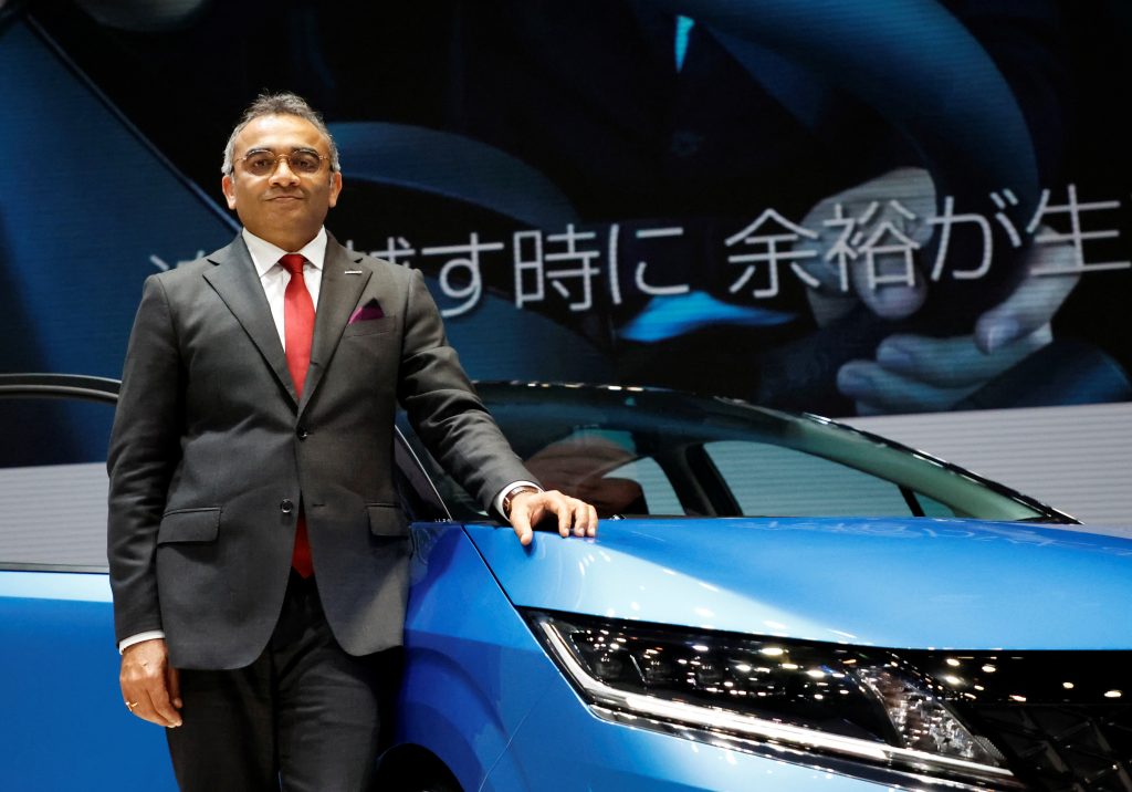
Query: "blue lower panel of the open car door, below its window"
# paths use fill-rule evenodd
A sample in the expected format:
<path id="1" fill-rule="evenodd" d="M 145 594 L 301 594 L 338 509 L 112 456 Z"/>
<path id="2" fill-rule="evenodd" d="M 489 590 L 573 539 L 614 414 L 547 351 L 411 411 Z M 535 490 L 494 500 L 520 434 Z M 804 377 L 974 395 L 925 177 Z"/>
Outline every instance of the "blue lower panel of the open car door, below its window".
<path id="1" fill-rule="evenodd" d="M 0 571 L 0 789 L 177 789 L 122 705 L 105 574 Z"/>

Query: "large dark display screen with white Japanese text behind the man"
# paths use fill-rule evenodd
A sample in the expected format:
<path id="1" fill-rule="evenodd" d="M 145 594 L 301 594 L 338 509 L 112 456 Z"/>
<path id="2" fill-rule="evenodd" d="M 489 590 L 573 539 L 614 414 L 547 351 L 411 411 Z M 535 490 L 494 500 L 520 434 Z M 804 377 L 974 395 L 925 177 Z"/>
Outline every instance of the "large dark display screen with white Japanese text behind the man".
<path id="1" fill-rule="evenodd" d="M 142 280 L 238 228 L 240 111 L 291 90 L 329 230 L 426 273 L 473 376 L 1127 401 L 1130 34 L 1115 1 L 9 1 L 0 367 L 119 374 Z"/>

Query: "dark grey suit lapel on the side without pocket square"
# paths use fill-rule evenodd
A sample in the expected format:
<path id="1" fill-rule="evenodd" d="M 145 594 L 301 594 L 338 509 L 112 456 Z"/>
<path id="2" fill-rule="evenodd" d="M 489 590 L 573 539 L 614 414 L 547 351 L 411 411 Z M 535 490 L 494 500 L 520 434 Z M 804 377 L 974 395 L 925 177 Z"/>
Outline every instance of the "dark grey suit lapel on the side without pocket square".
<path id="1" fill-rule="evenodd" d="M 278 331 L 272 320 L 272 309 L 267 305 L 267 296 L 264 295 L 264 287 L 259 282 L 256 266 L 251 263 L 243 239 L 237 237 L 231 245 L 208 256 L 208 261 L 216 266 L 205 272 L 205 280 L 212 284 L 251 338 L 264 360 L 275 373 L 275 378 L 290 394 L 292 403 L 297 403 L 299 399 L 286 367 Z M 317 330 L 315 338 L 318 338 Z"/>

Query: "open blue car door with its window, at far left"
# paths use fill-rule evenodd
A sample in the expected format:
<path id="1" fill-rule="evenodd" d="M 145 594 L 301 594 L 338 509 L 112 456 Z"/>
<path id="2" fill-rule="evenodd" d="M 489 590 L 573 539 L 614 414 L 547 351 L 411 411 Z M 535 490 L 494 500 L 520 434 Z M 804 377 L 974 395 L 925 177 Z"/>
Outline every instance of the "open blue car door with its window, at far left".
<path id="1" fill-rule="evenodd" d="M 117 383 L 0 376 L 0 753 L 11 790 L 174 790 L 118 687 L 105 445 Z"/>

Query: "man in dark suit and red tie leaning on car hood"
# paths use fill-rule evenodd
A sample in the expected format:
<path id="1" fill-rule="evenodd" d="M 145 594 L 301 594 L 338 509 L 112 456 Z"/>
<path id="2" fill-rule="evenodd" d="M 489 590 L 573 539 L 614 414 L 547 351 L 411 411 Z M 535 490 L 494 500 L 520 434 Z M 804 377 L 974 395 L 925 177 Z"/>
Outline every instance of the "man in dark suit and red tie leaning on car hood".
<path id="1" fill-rule="evenodd" d="M 232 133 L 228 247 L 146 281 L 108 467 L 126 706 L 166 727 L 190 790 L 371 784 L 401 642 L 400 401 L 523 544 L 589 504 L 543 492 L 447 344 L 419 271 L 323 227 L 342 189 L 319 116 L 260 96 Z"/>

